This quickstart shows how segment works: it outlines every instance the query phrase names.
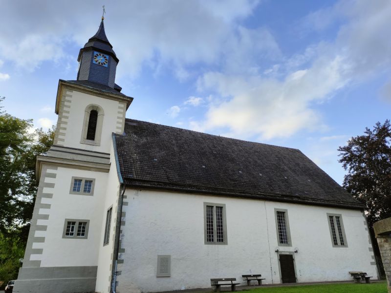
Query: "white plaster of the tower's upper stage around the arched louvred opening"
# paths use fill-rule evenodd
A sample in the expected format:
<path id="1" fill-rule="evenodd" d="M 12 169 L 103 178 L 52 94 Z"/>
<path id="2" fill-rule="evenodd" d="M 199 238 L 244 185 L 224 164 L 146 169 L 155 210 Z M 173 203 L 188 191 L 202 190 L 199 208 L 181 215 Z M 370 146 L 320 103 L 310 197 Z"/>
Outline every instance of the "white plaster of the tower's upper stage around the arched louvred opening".
<path id="1" fill-rule="evenodd" d="M 123 102 L 90 95 L 64 88 L 65 95 L 59 111 L 55 142 L 59 146 L 82 148 L 109 153 L 112 145 L 111 133 L 123 133 L 126 105 Z M 104 110 L 103 126 L 99 146 L 81 144 L 85 110 L 88 105 L 99 105 Z M 65 113 L 64 113 L 65 110 Z M 88 118 L 88 117 L 87 117 Z M 97 129 L 99 131 L 99 129 Z"/>

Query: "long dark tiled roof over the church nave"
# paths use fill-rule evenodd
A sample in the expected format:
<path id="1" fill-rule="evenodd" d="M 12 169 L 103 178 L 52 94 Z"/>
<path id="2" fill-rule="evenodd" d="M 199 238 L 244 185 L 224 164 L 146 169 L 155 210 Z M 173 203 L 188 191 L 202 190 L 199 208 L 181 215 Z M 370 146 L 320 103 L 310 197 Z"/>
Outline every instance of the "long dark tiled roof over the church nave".
<path id="1" fill-rule="evenodd" d="M 132 119 L 113 139 L 127 185 L 364 208 L 298 149 Z"/>

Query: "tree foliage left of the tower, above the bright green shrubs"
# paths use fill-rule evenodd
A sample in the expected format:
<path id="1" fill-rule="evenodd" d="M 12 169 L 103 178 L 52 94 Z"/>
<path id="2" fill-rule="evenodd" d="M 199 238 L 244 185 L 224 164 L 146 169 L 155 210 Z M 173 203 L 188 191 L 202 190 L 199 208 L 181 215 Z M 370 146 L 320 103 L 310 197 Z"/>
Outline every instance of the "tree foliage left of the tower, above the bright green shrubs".
<path id="1" fill-rule="evenodd" d="M 54 137 L 54 128 L 30 133 L 31 127 L 31 120 L 0 113 L 0 232 L 5 234 L 31 219 L 36 156 L 49 149 Z"/>

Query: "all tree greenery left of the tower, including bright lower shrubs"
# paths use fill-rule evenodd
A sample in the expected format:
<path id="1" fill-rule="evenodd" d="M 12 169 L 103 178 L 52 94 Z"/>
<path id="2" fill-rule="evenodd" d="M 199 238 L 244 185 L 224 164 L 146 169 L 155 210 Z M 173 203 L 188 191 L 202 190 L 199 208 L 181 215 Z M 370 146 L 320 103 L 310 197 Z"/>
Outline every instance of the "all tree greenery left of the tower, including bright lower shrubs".
<path id="1" fill-rule="evenodd" d="M 53 138 L 54 127 L 32 131 L 32 120 L 0 111 L 0 280 L 18 275 L 38 188 L 36 156 Z"/>

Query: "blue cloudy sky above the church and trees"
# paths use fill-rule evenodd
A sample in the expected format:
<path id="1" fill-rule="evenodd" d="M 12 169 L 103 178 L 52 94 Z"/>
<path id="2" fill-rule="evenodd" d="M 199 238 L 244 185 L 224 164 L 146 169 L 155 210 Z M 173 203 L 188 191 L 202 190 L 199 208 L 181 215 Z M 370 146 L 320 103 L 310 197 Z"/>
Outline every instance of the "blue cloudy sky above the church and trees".
<path id="1" fill-rule="evenodd" d="M 390 0 L 0 0 L 0 96 L 47 129 L 58 80 L 100 24 L 127 118 L 300 149 L 336 182 L 338 147 L 390 119 Z"/>

